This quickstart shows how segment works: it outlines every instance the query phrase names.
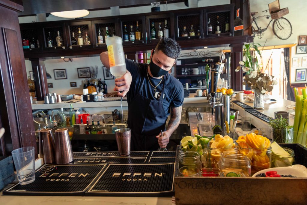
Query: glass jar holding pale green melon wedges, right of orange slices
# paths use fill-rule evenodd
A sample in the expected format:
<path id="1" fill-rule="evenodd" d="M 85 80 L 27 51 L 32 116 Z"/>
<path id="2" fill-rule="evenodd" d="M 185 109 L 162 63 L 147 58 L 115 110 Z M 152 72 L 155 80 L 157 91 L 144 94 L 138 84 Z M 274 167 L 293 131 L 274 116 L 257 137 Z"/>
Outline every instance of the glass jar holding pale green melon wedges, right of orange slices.
<path id="1" fill-rule="evenodd" d="M 282 147 L 286 152 L 284 154 L 272 152 L 272 167 L 288 167 L 294 162 L 294 151 L 293 149 Z"/>

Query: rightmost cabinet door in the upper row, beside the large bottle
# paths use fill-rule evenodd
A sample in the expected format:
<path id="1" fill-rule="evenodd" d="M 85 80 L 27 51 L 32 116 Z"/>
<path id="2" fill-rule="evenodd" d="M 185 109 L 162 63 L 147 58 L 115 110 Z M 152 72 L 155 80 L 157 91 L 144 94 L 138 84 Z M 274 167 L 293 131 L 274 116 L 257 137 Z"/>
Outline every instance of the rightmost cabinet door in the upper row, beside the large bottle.
<path id="1" fill-rule="evenodd" d="M 233 36 L 234 34 L 234 4 L 210 7 L 204 10 L 204 37 Z M 217 32 L 217 17 L 219 17 L 220 33 Z M 212 26 L 212 32 L 208 30 L 208 20 Z M 228 25 L 227 25 L 228 24 Z M 228 27 L 228 31 L 227 31 Z"/>

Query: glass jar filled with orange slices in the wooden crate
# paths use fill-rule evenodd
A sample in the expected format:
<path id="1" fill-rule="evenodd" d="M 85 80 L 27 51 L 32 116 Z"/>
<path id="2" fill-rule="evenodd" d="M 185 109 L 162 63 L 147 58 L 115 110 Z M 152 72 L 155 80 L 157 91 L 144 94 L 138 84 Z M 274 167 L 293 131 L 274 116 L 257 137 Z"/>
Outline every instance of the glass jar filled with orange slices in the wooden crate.
<path id="1" fill-rule="evenodd" d="M 272 150 L 270 148 L 243 148 L 238 144 L 239 154 L 251 160 L 251 175 L 271 167 Z"/>

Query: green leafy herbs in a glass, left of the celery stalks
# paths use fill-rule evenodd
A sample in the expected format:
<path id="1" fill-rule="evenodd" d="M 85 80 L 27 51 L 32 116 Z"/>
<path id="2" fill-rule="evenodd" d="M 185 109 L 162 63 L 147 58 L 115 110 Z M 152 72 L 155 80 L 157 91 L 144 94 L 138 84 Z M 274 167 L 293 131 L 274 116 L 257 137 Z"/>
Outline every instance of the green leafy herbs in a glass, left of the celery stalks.
<path id="1" fill-rule="evenodd" d="M 286 143 L 289 123 L 287 118 L 270 119 L 269 126 L 273 128 L 273 140 L 280 143 Z"/>

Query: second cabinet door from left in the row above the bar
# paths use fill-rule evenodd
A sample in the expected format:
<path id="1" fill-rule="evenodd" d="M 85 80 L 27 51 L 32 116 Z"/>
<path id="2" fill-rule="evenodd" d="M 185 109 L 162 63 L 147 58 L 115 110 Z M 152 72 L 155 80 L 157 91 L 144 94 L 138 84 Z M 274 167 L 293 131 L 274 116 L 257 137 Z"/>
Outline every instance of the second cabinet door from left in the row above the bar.
<path id="1" fill-rule="evenodd" d="M 68 48 L 67 43 L 67 34 L 65 30 L 64 23 L 44 23 L 43 24 L 43 38 L 44 42 L 42 43 L 43 49 L 45 51 L 50 50 L 63 50 Z M 62 38 L 62 45 L 57 42 L 57 32 L 59 31 L 60 37 Z M 50 35 L 49 35 L 50 33 Z M 51 39 L 51 44 L 48 43 L 49 38 Z"/>

